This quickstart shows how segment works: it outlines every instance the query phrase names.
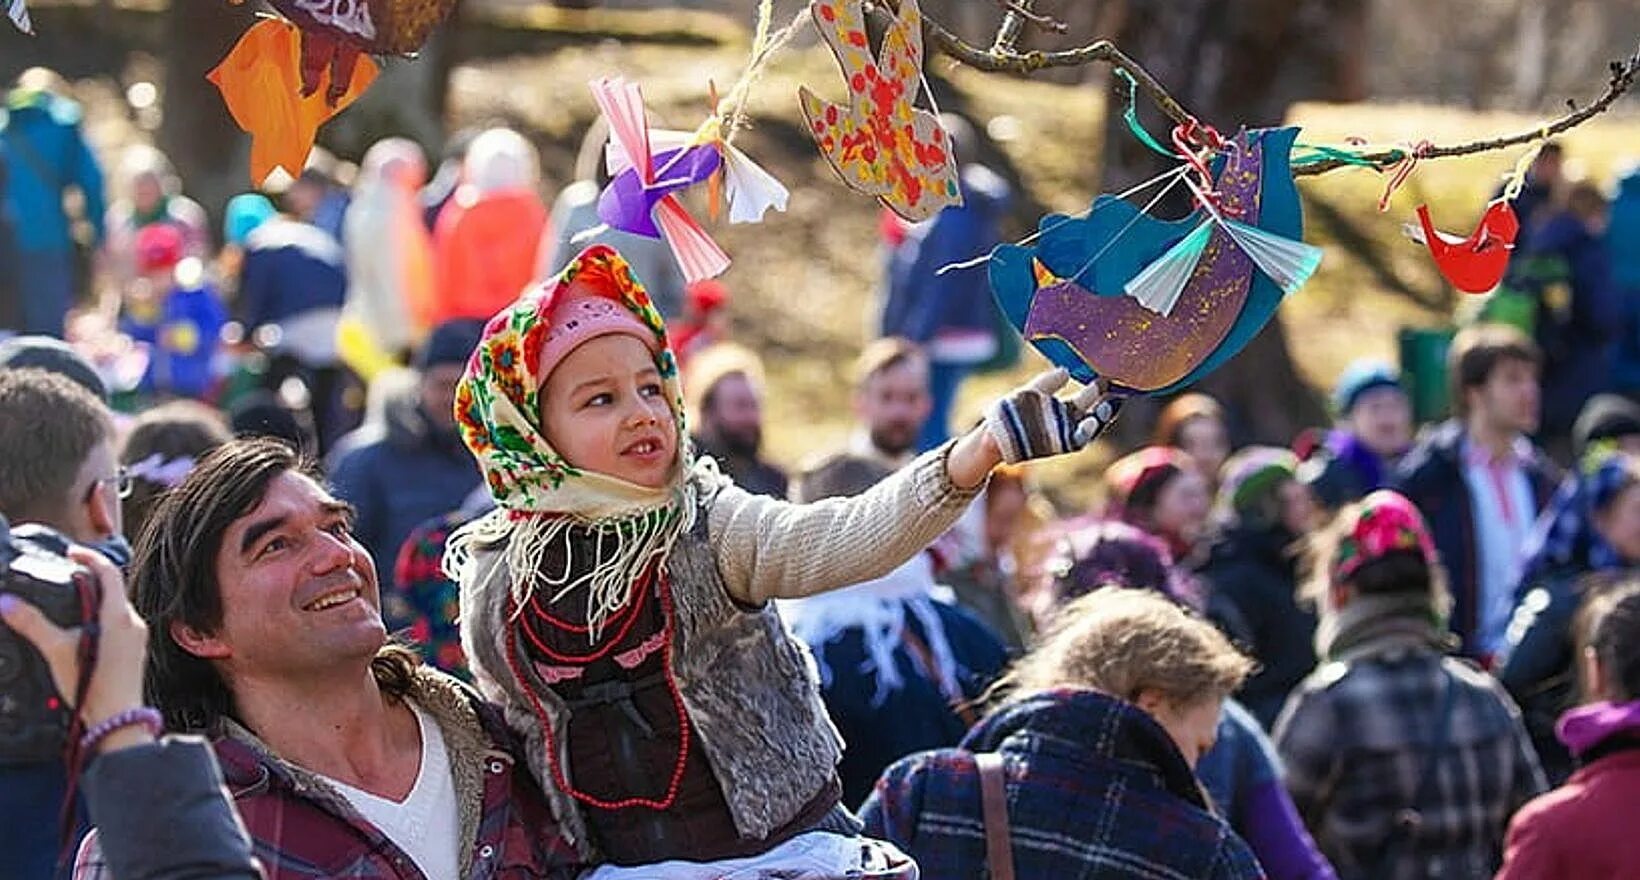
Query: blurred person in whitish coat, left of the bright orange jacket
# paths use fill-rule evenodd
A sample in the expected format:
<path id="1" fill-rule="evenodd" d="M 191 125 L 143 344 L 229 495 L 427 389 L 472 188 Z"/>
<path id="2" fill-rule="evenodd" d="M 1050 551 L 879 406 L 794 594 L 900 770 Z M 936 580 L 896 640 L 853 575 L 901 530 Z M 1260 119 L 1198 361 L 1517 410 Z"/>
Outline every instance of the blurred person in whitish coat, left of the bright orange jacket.
<path id="1" fill-rule="evenodd" d="M 426 180 L 421 147 L 405 138 L 371 146 L 343 221 L 348 300 L 343 321 L 380 357 L 405 364 L 428 331 L 433 239 L 417 198 Z"/>

